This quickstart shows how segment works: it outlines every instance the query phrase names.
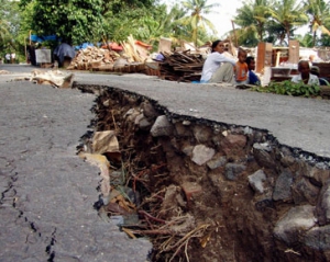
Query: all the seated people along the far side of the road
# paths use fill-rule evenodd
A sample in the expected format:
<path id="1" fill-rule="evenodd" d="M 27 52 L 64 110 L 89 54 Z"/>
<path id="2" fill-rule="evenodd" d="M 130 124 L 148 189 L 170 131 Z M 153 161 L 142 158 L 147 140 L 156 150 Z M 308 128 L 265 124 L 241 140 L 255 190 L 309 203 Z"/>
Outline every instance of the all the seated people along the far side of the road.
<path id="1" fill-rule="evenodd" d="M 234 86 L 261 84 L 260 78 L 254 73 L 255 59 L 246 57 L 244 49 L 239 49 L 238 61 L 228 56 L 224 49 L 226 42 L 215 41 L 211 46 L 211 54 L 207 57 L 201 72 L 200 83 L 229 82 Z M 310 67 L 308 60 L 298 62 L 299 75 L 292 78 L 293 82 L 305 84 L 329 86 L 329 82 L 319 78 L 320 69 Z"/>

